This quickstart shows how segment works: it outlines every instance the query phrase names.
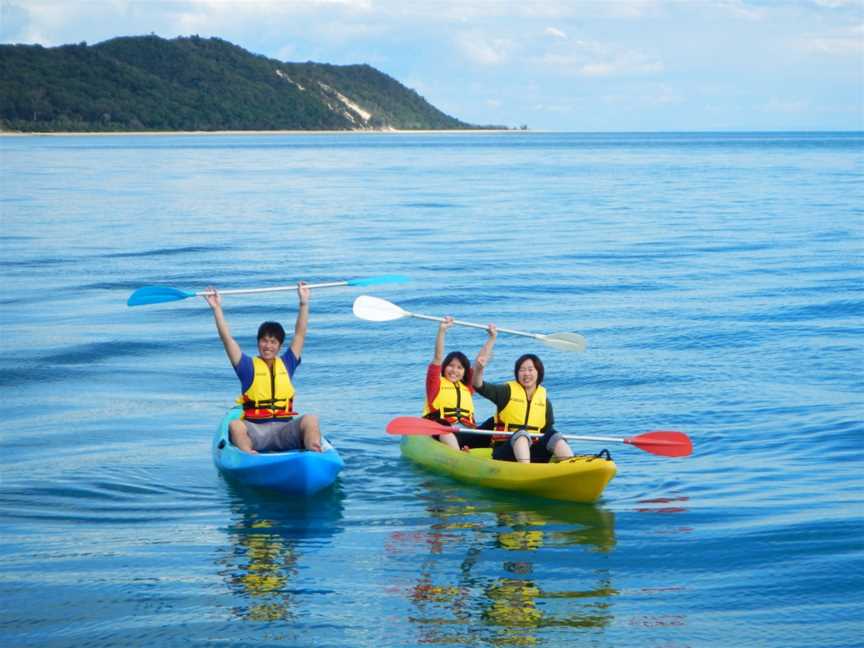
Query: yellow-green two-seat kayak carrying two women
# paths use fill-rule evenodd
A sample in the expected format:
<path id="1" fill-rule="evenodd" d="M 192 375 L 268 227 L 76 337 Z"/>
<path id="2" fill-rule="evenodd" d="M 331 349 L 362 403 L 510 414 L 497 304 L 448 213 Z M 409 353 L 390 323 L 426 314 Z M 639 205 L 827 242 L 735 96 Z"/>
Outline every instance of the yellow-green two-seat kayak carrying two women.
<path id="1" fill-rule="evenodd" d="M 489 448 L 460 452 L 420 435 L 403 436 L 401 450 L 414 463 L 467 484 L 567 502 L 596 502 L 616 472 L 615 463 L 602 457 L 548 464 L 497 461 Z"/>

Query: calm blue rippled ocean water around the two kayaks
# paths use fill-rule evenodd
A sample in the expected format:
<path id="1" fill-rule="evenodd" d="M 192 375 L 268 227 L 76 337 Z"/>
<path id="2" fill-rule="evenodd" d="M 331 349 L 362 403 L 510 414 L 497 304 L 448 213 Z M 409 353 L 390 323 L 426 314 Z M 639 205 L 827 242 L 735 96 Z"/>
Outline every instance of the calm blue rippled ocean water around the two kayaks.
<path id="1" fill-rule="evenodd" d="M 5 137 L 4 646 L 860 646 L 864 134 Z M 313 295 L 298 405 L 346 468 L 237 490 L 209 442 L 237 385 L 200 299 L 385 273 L 403 308 L 541 355 L 558 428 L 607 445 L 594 506 L 402 460 L 435 324 Z M 291 293 L 225 298 L 248 350 Z M 484 334 L 453 329 L 470 357 Z M 481 414 L 491 413 L 479 403 Z M 576 444 L 579 452 L 603 446 Z"/>

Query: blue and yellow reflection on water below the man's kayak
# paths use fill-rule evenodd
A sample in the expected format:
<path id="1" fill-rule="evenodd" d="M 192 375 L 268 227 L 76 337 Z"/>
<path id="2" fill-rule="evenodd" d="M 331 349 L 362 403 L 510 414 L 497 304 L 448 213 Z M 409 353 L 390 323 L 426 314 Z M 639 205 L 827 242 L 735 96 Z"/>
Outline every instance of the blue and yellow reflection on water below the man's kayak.
<path id="1" fill-rule="evenodd" d="M 341 531 L 344 496 L 337 485 L 313 499 L 287 498 L 228 484 L 229 546 L 220 552 L 220 574 L 248 621 L 292 621 L 301 613 L 294 582 L 305 548 Z"/>

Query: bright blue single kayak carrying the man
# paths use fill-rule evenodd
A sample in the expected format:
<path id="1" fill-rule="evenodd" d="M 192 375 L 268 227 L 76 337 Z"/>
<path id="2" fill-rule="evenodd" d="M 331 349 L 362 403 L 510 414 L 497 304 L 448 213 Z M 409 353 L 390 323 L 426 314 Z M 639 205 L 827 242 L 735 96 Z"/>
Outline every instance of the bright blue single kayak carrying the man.
<path id="1" fill-rule="evenodd" d="M 228 411 L 213 437 L 213 464 L 226 478 L 247 486 L 270 488 L 291 495 L 312 495 L 330 486 L 345 465 L 328 441 L 323 452 L 291 450 L 250 454 L 232 445 L 228 425 L 241 410 Z"/>

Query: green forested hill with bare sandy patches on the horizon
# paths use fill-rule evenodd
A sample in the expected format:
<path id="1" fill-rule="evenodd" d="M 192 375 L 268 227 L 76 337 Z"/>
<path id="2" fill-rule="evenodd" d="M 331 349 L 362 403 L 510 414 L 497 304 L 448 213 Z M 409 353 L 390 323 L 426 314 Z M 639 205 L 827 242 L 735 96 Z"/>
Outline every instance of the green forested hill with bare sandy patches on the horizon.
<path id="1" fill-rule="evenodd" d="M 6 132 L 460 130 L 369 65 L 284 63 L 219 38 L 0 45 Z"/>

